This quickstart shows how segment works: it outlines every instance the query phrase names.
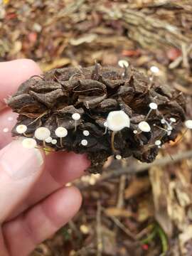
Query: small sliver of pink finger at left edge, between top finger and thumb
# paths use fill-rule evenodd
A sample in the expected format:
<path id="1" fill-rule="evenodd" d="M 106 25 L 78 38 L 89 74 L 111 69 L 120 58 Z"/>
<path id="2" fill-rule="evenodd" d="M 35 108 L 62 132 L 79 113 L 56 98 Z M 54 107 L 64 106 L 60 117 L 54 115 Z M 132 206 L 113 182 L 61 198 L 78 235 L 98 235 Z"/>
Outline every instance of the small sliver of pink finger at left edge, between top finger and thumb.
<path id="1" fill-rule="evenodd" d="M 16 123 L 16 113 L 11 112 L 8 108 L 1 111 L 0 115 L 0 149 L 9 144 L 13 137 L 11 137 L 11 129 Z"/>

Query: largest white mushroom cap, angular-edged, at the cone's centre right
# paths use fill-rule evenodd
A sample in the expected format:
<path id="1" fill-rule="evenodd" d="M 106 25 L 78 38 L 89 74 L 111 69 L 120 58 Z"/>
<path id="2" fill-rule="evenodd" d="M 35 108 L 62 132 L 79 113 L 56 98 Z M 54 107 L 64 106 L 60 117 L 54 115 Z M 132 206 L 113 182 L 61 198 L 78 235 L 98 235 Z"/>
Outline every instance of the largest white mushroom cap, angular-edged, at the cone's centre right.
<path id="1" fill-rule="evenodd" d="M 114 131 L 120 131 L 124 127 L 130 127 L 130 118 L 122 110 L 112 111 L 107 116 L 107 127 Z"/>

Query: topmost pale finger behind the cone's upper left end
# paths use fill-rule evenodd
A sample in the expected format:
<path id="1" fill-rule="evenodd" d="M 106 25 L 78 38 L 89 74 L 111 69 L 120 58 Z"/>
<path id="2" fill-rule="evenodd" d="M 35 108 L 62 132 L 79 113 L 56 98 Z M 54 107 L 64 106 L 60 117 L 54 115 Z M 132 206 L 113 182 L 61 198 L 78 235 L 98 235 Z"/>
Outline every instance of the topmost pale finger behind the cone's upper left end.
<path id="1" fill-rule="evenodd" d="M 33 60 L 20 59 L 0 63 L 0 110 L 6 106 L 4 99 L 16 92 L 21 82 L 39 74 L 41 69 Z"/>

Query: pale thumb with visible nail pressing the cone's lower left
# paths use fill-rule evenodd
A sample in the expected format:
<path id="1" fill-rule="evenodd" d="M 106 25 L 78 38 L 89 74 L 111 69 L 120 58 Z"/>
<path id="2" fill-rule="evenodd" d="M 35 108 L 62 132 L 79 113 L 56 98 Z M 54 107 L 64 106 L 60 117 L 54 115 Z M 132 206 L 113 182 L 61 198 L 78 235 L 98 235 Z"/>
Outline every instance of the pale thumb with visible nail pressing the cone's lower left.
<path id="1" fill-rule="evenodd" d="M 0 223 L 23 201 L 43 171 L 44 154 L 15 140 L 0 151 Z"/>

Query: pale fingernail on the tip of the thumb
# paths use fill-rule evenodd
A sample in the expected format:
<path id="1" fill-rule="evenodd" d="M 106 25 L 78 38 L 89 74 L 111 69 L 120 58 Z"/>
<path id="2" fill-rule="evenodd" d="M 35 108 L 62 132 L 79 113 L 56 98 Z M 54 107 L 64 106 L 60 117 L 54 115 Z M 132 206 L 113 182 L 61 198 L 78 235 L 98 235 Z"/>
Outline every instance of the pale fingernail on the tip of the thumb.
<path id="1" fill-rule="evenodd" d="M 21 140 L 11 142 L 1 150 L 0 166 L 13 179 L 19 180 L 35 174 L 43 165 L 39 149 L 26 149 Z"/>

